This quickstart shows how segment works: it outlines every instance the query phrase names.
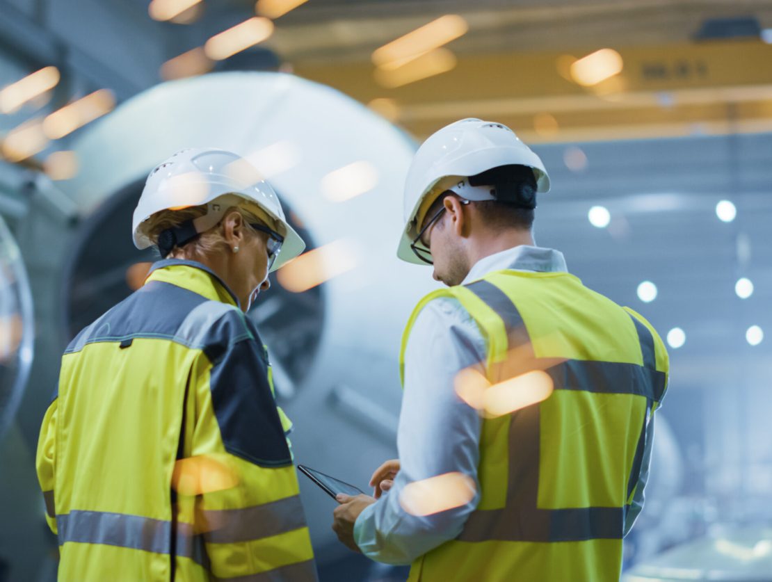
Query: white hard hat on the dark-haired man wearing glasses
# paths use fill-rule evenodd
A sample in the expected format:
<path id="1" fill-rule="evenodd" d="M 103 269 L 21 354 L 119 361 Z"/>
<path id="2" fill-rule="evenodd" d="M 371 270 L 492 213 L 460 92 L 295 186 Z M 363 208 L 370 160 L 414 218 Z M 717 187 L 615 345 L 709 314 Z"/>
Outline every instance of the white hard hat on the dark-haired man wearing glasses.
<path id="1" fill-rule="evenodd" d="M 410 245 L 418 236 L 416 215 L 429 193 L 439 195 L 452 190 L 467 200 L 495 200 L 489 194 L 490 188 L 470 186 L 466 178 L 513 164 L 533 170 L 537 192 L 550 190 L 550 177 L 539 156 L 506 125 L 470 117 L 429 136 L 415 153 L 405 181 L 405 230 L 397 256 L 403 261 L 426 264 L 418 259 Z"/>

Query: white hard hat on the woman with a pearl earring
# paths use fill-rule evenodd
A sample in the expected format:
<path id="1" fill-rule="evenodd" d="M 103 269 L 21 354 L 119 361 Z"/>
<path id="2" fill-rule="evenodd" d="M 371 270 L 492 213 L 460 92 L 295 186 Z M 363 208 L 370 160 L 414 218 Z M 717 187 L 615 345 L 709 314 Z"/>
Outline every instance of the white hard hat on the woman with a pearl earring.
<path id="1" fill-rule="evenodd" d="M 147 218 L 156 212 L 199 205 L 207 205 L 207 213 L 192 221 L 196 232 L 215 226 L 232 206 L 251 208 L 260 218 L 265 214 L 268 222 L 275 222 L 268 226 L 276 229 L 284 242 L 272 271 L 306 248 L 306 243 L 287 222 L 276 192 L 256 167 L 229 151 L 201 148 L 178 151 L 147 176 L 134 210 L 134 245 L 137 249 L 147 249 L 154 244 L 144 226 Z"/>

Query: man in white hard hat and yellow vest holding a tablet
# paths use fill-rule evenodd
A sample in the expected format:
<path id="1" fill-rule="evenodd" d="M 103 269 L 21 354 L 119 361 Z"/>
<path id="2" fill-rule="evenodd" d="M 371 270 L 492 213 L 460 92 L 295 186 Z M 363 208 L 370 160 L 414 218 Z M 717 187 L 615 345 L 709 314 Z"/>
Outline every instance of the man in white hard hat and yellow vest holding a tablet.
<path id="1" fill-rule="evenodd" d="M 433 264 L 402 344 L 399 460 L 334 529 L 410 580 L 618 580 L 643 502 L 668 355 L 655 330 L 533 242 L 549 178 L 508 127 L 433 134 L 398 256 Z M 381 492 L 387 491 L 383 495 Z"/>

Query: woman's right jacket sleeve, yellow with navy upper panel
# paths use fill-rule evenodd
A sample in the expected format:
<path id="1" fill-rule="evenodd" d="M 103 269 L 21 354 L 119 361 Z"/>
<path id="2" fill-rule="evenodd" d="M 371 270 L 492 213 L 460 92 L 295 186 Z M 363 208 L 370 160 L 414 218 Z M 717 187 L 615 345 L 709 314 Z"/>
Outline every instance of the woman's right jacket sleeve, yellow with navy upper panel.
<path id="1" fill-rule="evenodd" d="M 180 520 L 203 534 L 218 579 L 281 569 L 277 579 L 315 580 L 296 471 L 258 339 L 213 344 L 191 371 L 195 398 L 186 401 L 191 420 L 174 479 Z"/>

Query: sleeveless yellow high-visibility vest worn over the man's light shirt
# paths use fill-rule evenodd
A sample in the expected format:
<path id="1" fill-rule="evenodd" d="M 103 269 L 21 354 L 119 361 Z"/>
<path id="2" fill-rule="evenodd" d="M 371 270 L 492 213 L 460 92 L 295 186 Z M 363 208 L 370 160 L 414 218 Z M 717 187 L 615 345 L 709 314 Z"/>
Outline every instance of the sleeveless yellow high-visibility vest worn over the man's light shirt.
<path id="1" fill-rule="evenodd" d="M 575 276 L 503 270 L 418 304 L 402 342 L 403 380 L 411 327 L 438 297 L 458 299 L 477 323 L 487 381 L 541 369 L 554 391 L 483 419 L 479 505 L 455 540 L 413 563 L 408 580 L 618 581 L 625 516 L 667 386 L 662 340 Z"/>

